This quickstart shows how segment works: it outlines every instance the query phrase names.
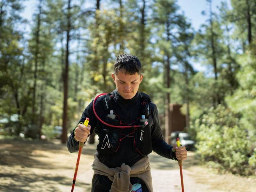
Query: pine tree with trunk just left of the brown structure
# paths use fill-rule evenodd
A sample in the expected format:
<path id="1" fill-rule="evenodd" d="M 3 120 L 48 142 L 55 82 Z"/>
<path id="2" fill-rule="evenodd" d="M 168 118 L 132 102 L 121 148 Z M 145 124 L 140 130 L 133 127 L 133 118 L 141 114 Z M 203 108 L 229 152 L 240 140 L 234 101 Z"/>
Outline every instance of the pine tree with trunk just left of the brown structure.
<path id="1" fill-rule="evenodd" d="M 181 16 L 178 14 L 179 6 L 173 0 L 158 0 L 154 4 L 153 20 L 157 25 L 157 47 L 164 65 L 164 88 L 165 96 L 165 141 L 170 143 L 170 132 L 172 132 L 170 119 L 171 103 L 171 59 L 173 57 L 173 46 L 177 42 L 174 29 L 178 27 Z M 170 131 L 169 131 L 170 130 Z"/>

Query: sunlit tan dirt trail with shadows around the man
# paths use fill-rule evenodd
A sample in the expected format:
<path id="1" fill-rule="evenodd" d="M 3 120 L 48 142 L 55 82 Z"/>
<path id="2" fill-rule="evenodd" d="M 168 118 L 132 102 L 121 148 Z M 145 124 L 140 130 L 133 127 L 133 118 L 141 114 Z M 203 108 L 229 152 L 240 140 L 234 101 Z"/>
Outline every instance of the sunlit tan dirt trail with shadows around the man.
<path id="1" fill-rule="evenodd" d="M 95 148 L 96 144 L 83 148 L 76 192 L 91 190 Z M 180 192 L 178 163 L 156 153 L 149 157 L 154 192 Z M 69 153 L 59 140 L 0 140 L 0 191 L 70 191 L 76 159 L 77 153 Z M 256 189 L 256 179 L 215 174 L 200 166 L 193 152 L 189 152 L 188 159 L 183 162 L 183 177 L 186 192 L 254 192 Z"/>

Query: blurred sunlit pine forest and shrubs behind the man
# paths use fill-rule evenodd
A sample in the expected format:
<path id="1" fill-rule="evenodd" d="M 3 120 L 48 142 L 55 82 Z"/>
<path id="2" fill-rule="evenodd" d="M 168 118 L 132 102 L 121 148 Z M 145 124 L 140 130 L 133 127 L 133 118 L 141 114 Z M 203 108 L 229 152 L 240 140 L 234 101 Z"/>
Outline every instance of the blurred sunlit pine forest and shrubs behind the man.
<path id="1" fill-rule="evenodd" d="M 97 93 L 115 89 L 118 54 L 139 57 L 164 130 L 182 104 L 196 154 L 220 171 L 256 170 L 256 1 L 205 1 L 198 30 L 175 0 L 0 1 L 0 136 L 61 142 Z M 31 32 L 24 30 L 30 26 Z M 204 66 L 204 71 L 194 66 Z M 42 137 L 43 135 L 43 137 Z"/>

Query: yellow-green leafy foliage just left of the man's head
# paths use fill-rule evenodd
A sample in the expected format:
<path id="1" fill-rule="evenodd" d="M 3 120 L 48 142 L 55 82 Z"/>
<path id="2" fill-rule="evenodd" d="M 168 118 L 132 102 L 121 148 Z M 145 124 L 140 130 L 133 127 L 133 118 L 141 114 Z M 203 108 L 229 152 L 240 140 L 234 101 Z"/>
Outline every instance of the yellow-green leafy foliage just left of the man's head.
<path id="1" fill-rule="evenodd" d="M 92 84 L 100 87 L 101 90 L 107 91 L 112 88 L 112 64 L 109 63 L 111 58 L 110 46 L 117 42 L 116 28 L 119 26 L 119 20 L 115 12 L 107 10 L 96 11 L 96 25 L 90 25 L 91 39 L 88 41 L 89 49 L 92 50 L 87 56 L 88 68 L 90 68 L 90 77 Z M 112 50 L 113 52 L 114 50 Z"/>

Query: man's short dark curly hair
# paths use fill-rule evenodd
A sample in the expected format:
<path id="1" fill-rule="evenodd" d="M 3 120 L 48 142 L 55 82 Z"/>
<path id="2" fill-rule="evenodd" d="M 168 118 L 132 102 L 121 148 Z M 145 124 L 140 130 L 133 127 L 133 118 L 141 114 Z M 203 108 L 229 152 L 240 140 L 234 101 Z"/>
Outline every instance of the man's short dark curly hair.
<path id="1" fill-rule="evenodd" d="M 136 72 L 141 74 L 141 63 L 138 57 L 130 54 L 121 54 L 116 57 L 114 63 L 114 73 L 124 70 L 125 74 L 134 75 Z"/>

